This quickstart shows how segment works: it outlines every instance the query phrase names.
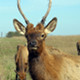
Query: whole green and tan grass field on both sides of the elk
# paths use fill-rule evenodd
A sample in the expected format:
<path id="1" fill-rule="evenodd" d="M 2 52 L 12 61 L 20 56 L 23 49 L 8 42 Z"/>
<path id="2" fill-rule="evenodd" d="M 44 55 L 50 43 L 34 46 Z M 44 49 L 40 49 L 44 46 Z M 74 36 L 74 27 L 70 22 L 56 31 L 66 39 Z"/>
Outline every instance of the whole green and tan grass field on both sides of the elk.
<path id="1" fill-rule="evenodd" d="M 54 46 L 63 52 L 77 55 L 76 42 L 80 36 L 49 36 L 46 39 L 48 46 Z M 15 60 L 16 46 L 25 44 L 24 37 L 0 38 L 0 80 L 15 80 Z M 27 79 L 30 79 L 29 74 Z"/>

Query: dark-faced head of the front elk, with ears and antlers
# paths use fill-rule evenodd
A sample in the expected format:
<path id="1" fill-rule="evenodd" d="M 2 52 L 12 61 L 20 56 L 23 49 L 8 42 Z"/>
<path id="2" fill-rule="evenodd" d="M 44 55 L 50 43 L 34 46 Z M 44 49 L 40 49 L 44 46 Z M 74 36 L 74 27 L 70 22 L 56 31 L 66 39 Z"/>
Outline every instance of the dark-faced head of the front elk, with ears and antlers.
<path id="1" fill-rule="evenodd" d="M 47 15 L 49 14 L 49 11 L 51 9 L 51 2 L 52 0 L 49 0 L 49 7 L 45 14 L 45 16 L 42 18 L 41 22 L 37 24 L 36 27 L 34 27 L 33 24 L 31 24 L 27 18 L 24 16 L 20 5 L 20 0 L 18 0 L 18 9 L 20 13 L 22 14 L 23 18 L 25 19 L 25 22 L 27 23 L 27 27 L 24 27 L 23 24 L 21 24 L 18 20 L 14 19 L 13 24 L 15 29 L 22 35 L 25 35 L 28 42 L 28 49 L 29 50 L 38 50 L 40 51 L 40 47 L 43 47 L 44 40 L 47 36 L 47 34 L 54 31 L 57 24 L 57 18 L 53 18 L 45 27 L 44 23 L 46 20 Z"/>

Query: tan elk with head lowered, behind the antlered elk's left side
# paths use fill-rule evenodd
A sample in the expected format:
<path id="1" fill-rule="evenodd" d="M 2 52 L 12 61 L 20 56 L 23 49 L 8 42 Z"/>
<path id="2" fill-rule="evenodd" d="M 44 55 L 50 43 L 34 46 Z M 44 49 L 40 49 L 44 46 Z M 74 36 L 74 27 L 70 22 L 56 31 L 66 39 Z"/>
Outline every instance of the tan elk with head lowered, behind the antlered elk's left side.
<path id="1" fill-rule="evenodd" d="M 15 55 L 16 63 L 16 80 L 26 80 L 28 67 L 28 50 L 26 46 L 18 45 L 17 54 Z"/>

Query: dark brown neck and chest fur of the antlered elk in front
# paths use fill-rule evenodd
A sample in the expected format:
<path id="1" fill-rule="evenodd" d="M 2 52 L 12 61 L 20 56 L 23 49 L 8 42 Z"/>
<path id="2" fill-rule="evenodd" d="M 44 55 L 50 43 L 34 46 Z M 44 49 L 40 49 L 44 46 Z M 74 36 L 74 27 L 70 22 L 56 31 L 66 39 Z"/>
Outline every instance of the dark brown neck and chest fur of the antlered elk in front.
<path id="1" fill-rule="evenodd" d="M 39 51 L 29 51 L 29 71 L 33 80 L 58 80 L 60 62 L 55 63 L 54 56 L 47 53 L 45 44 Z M 55 64 L 55 66 L 54 66 Z M 59 64 L 59 65 L 58 65 Z"/>

